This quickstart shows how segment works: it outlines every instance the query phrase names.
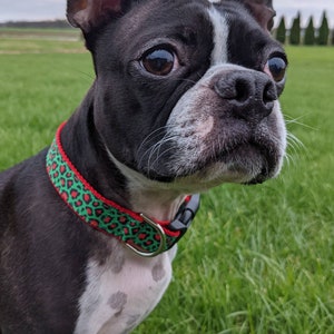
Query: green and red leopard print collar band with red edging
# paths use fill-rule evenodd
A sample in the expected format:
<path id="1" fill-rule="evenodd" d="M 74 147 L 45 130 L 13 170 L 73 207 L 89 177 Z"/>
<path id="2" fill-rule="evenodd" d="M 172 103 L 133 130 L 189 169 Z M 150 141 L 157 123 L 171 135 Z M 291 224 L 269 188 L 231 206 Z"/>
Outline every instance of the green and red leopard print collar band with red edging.
<path id="1" fill-rule="evenodd" d="M 140 215 L 127 212 L 117 204 L 105 199 L 80 176 L 59 148 L 57 138 L 47 154 L 47 171 L 63 202 L 86 224 L 130 245 L 144 254 L 161 253 L 170 249 L 178 240 L 178 234 L 168 235 L 161 249 L 161 233 L 156 226 L 145 222 Z M 71 165 L 71 166 L 70 166 Z M 75 169 L 75 170 L 73 170 Z M 112 206 L 114 204 L 115 206 Z"/>

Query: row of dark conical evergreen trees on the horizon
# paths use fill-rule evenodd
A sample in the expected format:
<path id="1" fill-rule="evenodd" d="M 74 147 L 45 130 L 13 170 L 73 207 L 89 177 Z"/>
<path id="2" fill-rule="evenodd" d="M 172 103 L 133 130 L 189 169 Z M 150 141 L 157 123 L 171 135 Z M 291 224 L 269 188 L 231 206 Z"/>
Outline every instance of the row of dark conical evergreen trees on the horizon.
<path id="1" fill-rule="evenodd" d="M 301 27 L 301 13 L 293 20 L 291 29 L 286 28 L 285 18 L 282 17 L 276 30 L 276 39 L 282 43 L 289 42 L 298 46 L 334 46 L 334 29 L 331 32 L 326 12 L 323 12 L 322 22 L 318 28 L 314 27 L 313 17 L 308 19 L 306 28 Z"/>

